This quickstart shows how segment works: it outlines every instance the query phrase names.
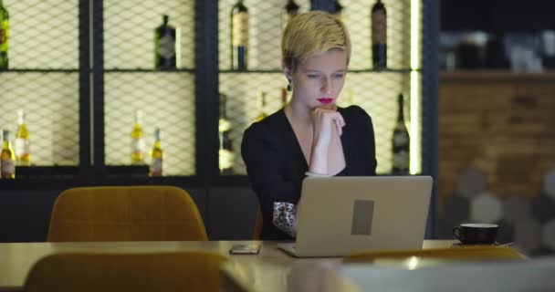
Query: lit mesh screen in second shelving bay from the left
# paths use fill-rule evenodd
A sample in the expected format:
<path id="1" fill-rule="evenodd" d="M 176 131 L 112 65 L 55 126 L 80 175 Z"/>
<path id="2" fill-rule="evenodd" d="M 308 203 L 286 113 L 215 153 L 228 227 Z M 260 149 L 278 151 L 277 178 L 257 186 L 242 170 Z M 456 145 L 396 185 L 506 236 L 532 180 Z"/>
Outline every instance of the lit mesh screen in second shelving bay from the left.
<path id="1" fill-rule="evenodd" d="M 147 149 L 162 130 L 163 174 L 194 175 L 194 1 L 105 1 L 103 13 L 105 163 L 131 164 L 134 112 L 142 110 Z M 162 15 L 181 38 L 176 72 L 153 69 Z"/>

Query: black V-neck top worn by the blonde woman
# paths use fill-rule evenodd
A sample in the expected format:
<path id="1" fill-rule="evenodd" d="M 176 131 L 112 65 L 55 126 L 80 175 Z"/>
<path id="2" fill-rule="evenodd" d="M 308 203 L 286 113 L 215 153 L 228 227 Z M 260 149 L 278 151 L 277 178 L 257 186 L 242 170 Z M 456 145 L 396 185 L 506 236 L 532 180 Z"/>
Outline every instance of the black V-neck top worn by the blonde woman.
<path id="1" fill-rule="evenodd" d="M 375 175 L 372 119 L 358 106 L 338 111 L 346 123 L 341 135 L 346 166 L 338 175 Z M 262 210 L 260 239 L 292 239 L 273 224 L 274 202 L 298 203 L 309 165 L 283 109 L 245 130 L 241 154 Z"/>

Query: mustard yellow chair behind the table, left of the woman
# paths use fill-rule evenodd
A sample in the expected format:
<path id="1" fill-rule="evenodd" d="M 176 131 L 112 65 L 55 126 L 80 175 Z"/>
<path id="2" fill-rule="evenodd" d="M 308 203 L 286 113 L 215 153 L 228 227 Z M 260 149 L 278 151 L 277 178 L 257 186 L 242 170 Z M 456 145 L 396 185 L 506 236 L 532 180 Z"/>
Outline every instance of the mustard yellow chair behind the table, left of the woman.
<path id="1" fill-rule="evenodd" d="M 58 196 L 47 241 L 207 240 L 191 196 L 173 186 L 73 188 Z"/>

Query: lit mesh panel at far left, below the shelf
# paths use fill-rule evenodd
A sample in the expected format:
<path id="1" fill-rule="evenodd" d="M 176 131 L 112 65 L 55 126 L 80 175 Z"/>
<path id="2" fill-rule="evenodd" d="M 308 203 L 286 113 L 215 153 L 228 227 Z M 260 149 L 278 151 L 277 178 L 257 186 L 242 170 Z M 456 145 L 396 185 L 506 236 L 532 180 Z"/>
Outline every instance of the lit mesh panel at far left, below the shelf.
<path id="1" fill-rule="evenodd" d="M 17 130 L 17 110 L 25 110 L 32 165 L 79 163 L 78 73 L 0 73 L 0 125 Z"/>

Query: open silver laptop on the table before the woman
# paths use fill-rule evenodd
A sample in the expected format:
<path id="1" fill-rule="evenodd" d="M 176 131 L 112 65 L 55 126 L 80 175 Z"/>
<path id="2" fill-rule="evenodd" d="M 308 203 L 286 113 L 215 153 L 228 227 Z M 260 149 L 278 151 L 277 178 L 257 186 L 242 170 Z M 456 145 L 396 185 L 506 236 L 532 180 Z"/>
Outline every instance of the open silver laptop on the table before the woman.
<path id="1" fill-rule="evenodd" d="M 432 183 L 430 176 L 308 177 L 297 240 L 278 247 L 298 257 L 422 248 Z"/>

